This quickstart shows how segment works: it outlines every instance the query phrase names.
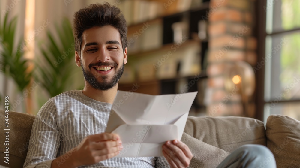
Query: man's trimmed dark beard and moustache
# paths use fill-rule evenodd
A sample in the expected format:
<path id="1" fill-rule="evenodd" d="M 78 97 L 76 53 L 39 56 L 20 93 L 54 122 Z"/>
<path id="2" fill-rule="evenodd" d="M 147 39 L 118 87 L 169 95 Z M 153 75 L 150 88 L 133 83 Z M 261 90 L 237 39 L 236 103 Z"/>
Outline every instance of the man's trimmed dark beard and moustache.
<path id="1" fill-rule="evenodd" d="M 121 78 L 124 71 L 124 60 L 122 66 L 119 69 L 117 63 L 115 62 L 99 62 L 97 64 L 90 64 L 88 67 L 89 69 L 91 69 L 93 66 L 113 66 L 114 68 L 116 68 L 116 73 L 113 74 L 112 79 L 109 80 L 108 76 L 93 75 L 91 71 L 86 70 L 83 65 L 81 66 L 84 79 L 91 85 L 91 87 L 97 90 L 108 90 L 116 86 L 116 84 L 119 82 L 119 79 Z M 98 78 L 100 78 L 100 81 L 98 80 Z"/>

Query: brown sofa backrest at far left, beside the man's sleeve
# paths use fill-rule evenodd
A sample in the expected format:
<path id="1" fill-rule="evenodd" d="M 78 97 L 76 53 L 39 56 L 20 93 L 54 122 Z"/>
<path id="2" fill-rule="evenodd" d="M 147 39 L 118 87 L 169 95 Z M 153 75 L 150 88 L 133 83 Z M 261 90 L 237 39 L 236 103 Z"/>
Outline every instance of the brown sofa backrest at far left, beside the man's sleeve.
<path id="1" fill-rule="evenodd" d="M 35 116 L 14 111 L 9 111 L 7 118 L 5 116 L 4 110 L 0 110 L 0 121 L 3 122 L 3 125 L 5 121 L 4 119 L 8 118 L 8 127 L 5 127 L 4 129 L 10 129 L 1 129 L 0 165 L 12 168 L 23 167 L 28 151 L 29 139 Z M 3 126 L 1 126 L 1 128 L 3 128 Z M 7 132 L 8 135 L 6 134 Z M 4 143 L 6 140 L 8 140 L 8 145 Z M 7 156 L 6 147 L 8 147 L 8 164 L 4 162 L 6 159 L 2 161 L 2 158 Z"/>

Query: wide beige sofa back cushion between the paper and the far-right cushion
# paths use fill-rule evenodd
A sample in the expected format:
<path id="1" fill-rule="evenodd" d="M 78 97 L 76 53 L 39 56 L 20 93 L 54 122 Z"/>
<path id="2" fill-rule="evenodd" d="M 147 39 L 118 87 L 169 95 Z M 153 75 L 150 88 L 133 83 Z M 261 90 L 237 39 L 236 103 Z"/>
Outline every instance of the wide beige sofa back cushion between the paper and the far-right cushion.
<path id="1" fill-rule="evenodd" d="M 184 132 L 229 153 L 244 144 L 266 146 L 264 123 L 253 118 L 189 116 Z"/>

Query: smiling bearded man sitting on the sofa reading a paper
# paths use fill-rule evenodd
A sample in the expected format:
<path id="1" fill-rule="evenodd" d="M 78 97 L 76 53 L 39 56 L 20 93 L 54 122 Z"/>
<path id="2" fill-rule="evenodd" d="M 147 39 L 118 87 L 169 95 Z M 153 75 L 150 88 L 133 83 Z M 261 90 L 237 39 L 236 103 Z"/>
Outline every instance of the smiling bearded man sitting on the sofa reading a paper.
<path id="1" fill-rule="evenodd" d="M 24 167 L 188 167 L 193 155 L 180 140 L 163 145 L 164 157 L 114 157 L 122 150 L 122 141 L 104 131 L 127 63 L 127 25 L 121 11 L 108 3 L 91 4 L 75 13 L 73 33 L 85 87 L 44 104 L 32 127 Z M 257 158 L 252 151 L 241 148 L 220 166 L 251 166 Z"/>

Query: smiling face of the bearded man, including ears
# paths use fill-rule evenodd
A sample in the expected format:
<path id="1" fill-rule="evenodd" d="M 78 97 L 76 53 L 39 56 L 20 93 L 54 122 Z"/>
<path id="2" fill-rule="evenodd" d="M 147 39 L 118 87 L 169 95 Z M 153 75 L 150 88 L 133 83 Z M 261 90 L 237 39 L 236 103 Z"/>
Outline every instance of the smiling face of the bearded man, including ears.
<path id="1" fill-rule="evenodd" d="M 116 86 L 127 63 L 127 48 L 123 52 L 120 33 L 113 26 L 85 30 L 80 57 L 75 54 L 85 80 L 98 90 Z"/>

